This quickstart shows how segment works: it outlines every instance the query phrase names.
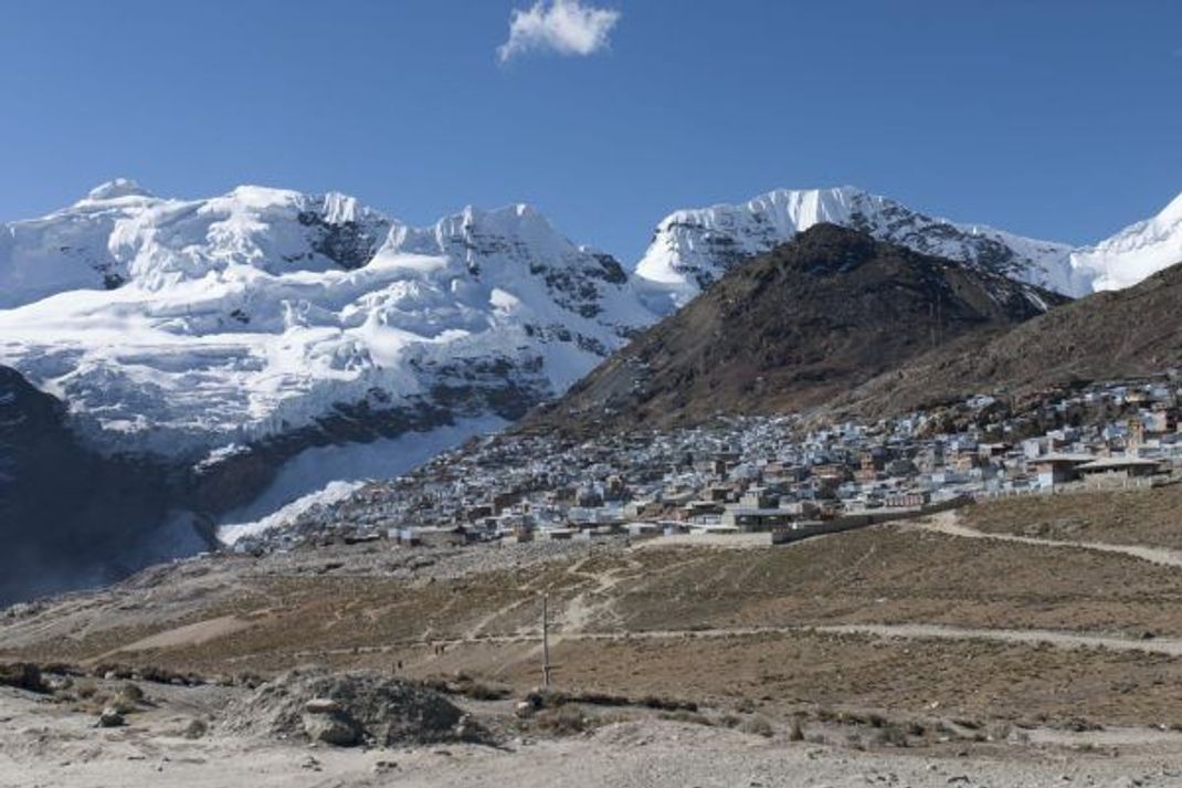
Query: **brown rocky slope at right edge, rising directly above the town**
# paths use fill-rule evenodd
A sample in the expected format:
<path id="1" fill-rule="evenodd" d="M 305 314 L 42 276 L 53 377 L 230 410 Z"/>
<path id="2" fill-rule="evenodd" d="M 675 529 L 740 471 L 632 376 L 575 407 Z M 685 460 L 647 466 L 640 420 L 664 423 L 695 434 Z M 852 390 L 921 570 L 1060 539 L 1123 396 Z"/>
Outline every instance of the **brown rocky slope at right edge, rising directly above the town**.
<path id="1" fill-rule="evenodd" d="M 1098 292 L 1007 331 L 924 354 L 836 406 L 876 415 L 979 393 L 1022 400 L 1050 387 L 1182 368 L 1180 305 L 1182 265 L 1174 265 L 1126 290 Z"/>

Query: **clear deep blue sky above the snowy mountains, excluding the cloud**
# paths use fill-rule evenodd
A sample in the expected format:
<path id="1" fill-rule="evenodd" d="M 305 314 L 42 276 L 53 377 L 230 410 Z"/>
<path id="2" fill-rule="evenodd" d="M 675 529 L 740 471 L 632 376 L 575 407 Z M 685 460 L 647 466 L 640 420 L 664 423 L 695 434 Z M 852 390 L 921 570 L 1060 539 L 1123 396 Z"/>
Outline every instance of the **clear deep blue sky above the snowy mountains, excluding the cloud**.
<path id="1" fill-rule="evenodd" d="M 528 201 L 631 261 L 780 186 L 1074 243 L 1182 190 L 1174 0 L 584 0 L 606 47 L 501 63 L 532 4 L 4 0 L 0 219 L 252 182 L 416 224 Z"/>

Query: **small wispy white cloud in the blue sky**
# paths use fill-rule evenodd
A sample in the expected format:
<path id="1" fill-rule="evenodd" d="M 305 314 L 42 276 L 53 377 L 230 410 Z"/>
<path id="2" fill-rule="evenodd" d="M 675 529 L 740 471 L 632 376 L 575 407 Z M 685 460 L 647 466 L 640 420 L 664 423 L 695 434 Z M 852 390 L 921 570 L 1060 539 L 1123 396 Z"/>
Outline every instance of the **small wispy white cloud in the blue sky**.
<path id="1" fill-rule="evenodd" d="M 509 40 L 496 47 L 501 63 L 526 52 L 587 56 L 608 47 L 619 12 L 584 6 L 582 0 L 538 0 L 528 11 L 513 9 Z"/>

